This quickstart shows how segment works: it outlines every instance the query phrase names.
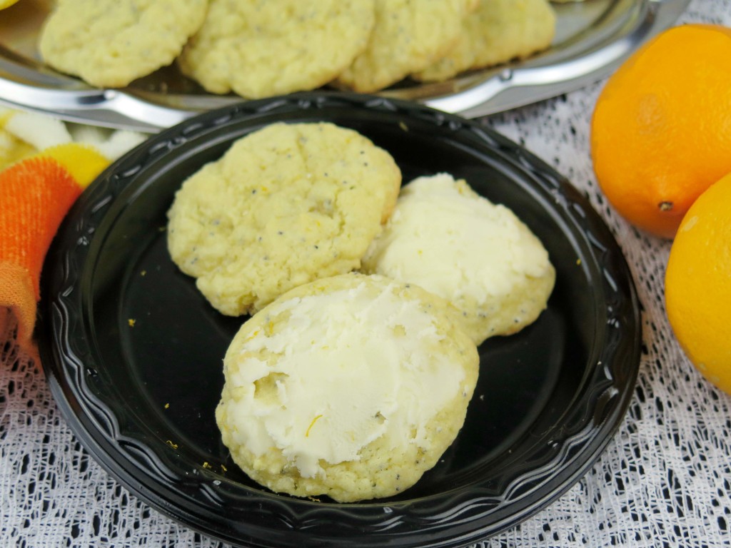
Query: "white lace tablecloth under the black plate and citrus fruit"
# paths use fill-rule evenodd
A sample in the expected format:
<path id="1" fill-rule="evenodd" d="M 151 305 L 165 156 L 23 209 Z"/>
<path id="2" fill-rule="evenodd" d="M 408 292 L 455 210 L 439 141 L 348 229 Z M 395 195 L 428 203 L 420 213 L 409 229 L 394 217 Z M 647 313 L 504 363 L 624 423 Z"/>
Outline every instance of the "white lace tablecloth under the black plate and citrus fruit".
<path id="1" fill-rule="evenodd" d="M 731 0 L 694 0 L 681 22 L 731 26 Z M 588 136 L 600 89 L 591 85 L 485 123 L 566 175 L 616 235 L 643 303 L 635 395 L 580 482 L 478 546 L 730 546 L 731 396 L 703 380 L 673 338 L 663 305 L 670 244 L 630 227 L 596 185 Z M 0 332 L 0 526 L 0 547 L 224 546 L 150 509 L 91 460 L 41 368 L 18 354 L 12 326 Z"/>

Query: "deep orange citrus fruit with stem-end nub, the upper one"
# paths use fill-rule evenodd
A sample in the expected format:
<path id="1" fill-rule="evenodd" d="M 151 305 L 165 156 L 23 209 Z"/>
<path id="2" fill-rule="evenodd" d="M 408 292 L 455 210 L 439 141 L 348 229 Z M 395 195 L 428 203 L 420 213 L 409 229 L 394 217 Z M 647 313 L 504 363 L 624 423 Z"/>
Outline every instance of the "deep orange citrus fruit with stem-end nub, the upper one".
<path id="1" fill-rule="evenodd" d="M 618 213 L 672 238 L 731 172 L 731 28 L 669 28 L 630 56 L 596 101 L 591 156 Z"/>

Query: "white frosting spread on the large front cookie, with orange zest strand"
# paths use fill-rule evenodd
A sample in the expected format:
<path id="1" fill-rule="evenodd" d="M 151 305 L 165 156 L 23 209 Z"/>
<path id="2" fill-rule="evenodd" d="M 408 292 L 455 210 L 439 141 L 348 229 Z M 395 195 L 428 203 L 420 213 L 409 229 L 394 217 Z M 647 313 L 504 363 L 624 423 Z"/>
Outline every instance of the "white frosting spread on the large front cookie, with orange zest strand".
<path id="1" fill-rule="evenodd" d="M 244 391 L 229 414 L 239 443 L 256 455 L 281 449 L 304 477 L 322 471 L 319 460 L 358 460 L 382 435 L 394 447 L 428 443 L 425 425 L 461 390 L 463 369 L 430 352 L 442 337 L 433 317 L 394 286 L 292 298 L 267 313 L 271 332 L 254 332 L 227 379 Z M 252 357 L 267 352 L 273 367 Z"/>

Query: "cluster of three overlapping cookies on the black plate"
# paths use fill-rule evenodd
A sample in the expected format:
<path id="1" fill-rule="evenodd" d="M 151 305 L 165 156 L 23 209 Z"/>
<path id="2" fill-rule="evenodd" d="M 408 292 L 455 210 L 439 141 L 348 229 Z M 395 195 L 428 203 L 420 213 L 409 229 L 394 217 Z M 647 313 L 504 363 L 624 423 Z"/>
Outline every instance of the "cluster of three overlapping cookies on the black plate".
<path id="1" fill-rule="evenodd" d="M 477 345 L 545 309 L 555 270 L 507 208 L 333 123 L 273 123 L 181 181 L 167 244 L 243 316 L 216 421 L 251 479 L 290 495 L 398 494 L 442 457 Z M 248 319 L 246 315 L 251 315 Z"/>

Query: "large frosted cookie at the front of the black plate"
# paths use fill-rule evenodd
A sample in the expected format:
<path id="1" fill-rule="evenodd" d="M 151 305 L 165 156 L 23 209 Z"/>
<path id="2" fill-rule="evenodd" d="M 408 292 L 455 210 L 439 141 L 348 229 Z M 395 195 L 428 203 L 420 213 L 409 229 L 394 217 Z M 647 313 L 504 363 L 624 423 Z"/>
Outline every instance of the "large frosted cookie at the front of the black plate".
<path id="1" fill-rule="evenodd" d="M 276 492 L 336 501 L 411 487 L 463 425 L 479 357 L 447 303 L 346 274 L 246 321 L 216 422 L 235 463 Z"/>

